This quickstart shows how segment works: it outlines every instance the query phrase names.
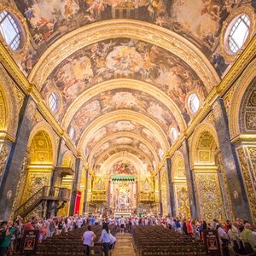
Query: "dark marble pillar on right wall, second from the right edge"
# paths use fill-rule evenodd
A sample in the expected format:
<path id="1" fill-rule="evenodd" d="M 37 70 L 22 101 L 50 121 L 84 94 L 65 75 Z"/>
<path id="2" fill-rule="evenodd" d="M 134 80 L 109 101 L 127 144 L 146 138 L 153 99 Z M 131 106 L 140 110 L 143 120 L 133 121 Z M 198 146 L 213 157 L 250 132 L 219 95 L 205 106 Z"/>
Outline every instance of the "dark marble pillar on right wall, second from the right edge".
<path id="1" fill-rule="evenodd" d="M 185 139 L 183 142 L 183 158 L 184 158 L 185 172 L 186 172 L 186 179 L 187 179 L 187 186 L 188 186 L 188 193 L 189 193 L 189 209 L 191 213 L 191 218 L 197 219 L 198 209 L 197 209 L 197 202 L 196 202 L 196 196 L 195 196 L 195 181 L 190 168 L 189 144 L 187 139 Z"/>

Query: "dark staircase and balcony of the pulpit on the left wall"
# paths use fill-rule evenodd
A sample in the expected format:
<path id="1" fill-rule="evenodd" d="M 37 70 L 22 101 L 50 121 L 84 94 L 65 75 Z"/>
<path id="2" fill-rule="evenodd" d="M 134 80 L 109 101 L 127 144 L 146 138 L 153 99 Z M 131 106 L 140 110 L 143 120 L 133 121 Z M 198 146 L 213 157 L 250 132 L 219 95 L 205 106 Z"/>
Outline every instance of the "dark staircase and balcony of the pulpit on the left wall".
<path id="1" fill-rule="evenodd" d="M 42 202 L 56 201 L 67 202 L 70 199 L 70 190 L 49 186 L 44 186 L 33 194 L 28 200 L 26 200 L 19 208 L 15 210 L 15 218 L 20 215 L 24 218 L 27 214 L 32 212 L 33 209 L 38 207 Z"/>

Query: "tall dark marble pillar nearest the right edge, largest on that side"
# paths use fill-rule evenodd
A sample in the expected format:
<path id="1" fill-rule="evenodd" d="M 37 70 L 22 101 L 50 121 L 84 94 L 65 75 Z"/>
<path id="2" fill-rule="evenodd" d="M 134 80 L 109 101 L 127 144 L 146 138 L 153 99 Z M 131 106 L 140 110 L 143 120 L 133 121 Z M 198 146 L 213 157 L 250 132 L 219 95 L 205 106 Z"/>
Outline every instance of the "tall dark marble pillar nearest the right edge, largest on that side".
<path id="1" fill-rule="evenodd" d="M 213 103 L 212 111 L 235 218 L 252 221 L 253 218 L 248 205 L 245 184 L 243 183 L 241 176 L 241 169 L 235 149 L 230 142 L 228 118 L 222 99 L 218 98 L 217 101 Z"/>

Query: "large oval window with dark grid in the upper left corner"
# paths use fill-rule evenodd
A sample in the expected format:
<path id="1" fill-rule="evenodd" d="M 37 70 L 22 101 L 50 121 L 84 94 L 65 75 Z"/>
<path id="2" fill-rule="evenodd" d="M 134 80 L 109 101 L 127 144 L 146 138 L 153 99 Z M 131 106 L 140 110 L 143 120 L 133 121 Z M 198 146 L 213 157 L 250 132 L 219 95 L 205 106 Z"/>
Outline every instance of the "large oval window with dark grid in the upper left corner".
<path id="1" fill-rule="evenodd" d="M 13 15 L 4 10 L 0 14 L 0 32 L 5 42 L 13 50 L 20 48 L 20 29 Z"/>

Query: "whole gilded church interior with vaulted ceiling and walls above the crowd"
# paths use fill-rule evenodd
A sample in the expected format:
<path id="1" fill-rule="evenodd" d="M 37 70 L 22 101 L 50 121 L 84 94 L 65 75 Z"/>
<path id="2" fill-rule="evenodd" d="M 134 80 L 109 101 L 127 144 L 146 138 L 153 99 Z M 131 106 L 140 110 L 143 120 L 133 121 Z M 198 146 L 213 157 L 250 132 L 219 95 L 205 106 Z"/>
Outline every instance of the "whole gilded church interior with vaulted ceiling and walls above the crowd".
<path id="1" fill-rule="evenodd" d="M 0 218 L 255 224 L 255 1 L 0 2 Z"/>

